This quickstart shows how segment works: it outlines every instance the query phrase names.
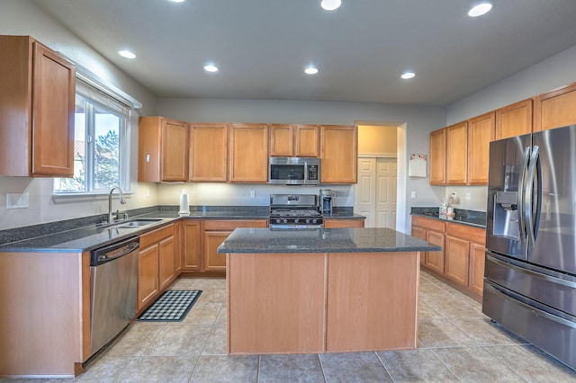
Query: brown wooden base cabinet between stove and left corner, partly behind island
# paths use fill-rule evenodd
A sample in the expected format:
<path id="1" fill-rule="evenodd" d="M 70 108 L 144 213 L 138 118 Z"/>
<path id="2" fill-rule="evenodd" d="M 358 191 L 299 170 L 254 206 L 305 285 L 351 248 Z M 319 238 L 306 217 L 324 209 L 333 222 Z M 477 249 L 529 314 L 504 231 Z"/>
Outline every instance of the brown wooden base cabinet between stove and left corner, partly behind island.
<path id="1" fill-rule="evenodd" d="M 266 219 L 202 221 L 203 272 L 226 272 L 226 254 L 217 253 L 218 246 L 238 227 L 268 227 Z"/>

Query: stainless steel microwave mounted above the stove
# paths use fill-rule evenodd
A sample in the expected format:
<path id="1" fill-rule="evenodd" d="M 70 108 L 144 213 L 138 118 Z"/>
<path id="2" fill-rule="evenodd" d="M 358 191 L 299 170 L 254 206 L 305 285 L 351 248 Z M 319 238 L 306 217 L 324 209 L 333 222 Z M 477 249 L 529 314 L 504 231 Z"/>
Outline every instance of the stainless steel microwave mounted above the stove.
<path id="1" fill-rule="evenodd" d="M 320 158 L 270 157 L 268 183 L 282 185 L 318 185 Z"/>

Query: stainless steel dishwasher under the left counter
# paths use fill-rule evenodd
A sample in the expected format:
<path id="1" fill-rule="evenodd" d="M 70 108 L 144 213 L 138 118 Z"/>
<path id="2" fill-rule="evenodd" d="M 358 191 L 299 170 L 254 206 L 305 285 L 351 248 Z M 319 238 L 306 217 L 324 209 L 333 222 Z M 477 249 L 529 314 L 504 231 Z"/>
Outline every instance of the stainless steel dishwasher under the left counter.
<path id="1" fill-rule="evenodd" d="M 139 237 L 92 251 L 90 354 L 99 351 L 136 315 Z"/>

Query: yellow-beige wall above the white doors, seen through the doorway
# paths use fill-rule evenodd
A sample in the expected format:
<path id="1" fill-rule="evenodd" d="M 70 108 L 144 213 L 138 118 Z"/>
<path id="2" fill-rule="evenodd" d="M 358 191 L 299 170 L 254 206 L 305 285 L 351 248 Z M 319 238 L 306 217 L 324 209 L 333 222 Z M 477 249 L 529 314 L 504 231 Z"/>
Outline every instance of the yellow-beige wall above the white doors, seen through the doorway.
<path id="1" fill-rule="evenodd" d="M 358 125 L 358 155 L 396 156 L 398 128 Z"/>

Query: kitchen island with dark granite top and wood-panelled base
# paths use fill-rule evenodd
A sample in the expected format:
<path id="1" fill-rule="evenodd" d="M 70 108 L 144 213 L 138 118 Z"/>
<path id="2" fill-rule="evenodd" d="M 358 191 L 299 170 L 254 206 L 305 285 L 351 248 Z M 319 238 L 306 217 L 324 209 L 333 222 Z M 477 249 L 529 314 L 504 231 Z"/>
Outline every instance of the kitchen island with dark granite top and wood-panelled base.
<path id="1" fill-rule="evenodd" d="M 363 352 L 417 346 L 419 253 L 389 228 L 238 228 L 227 254 L 228 352 Z"/>

